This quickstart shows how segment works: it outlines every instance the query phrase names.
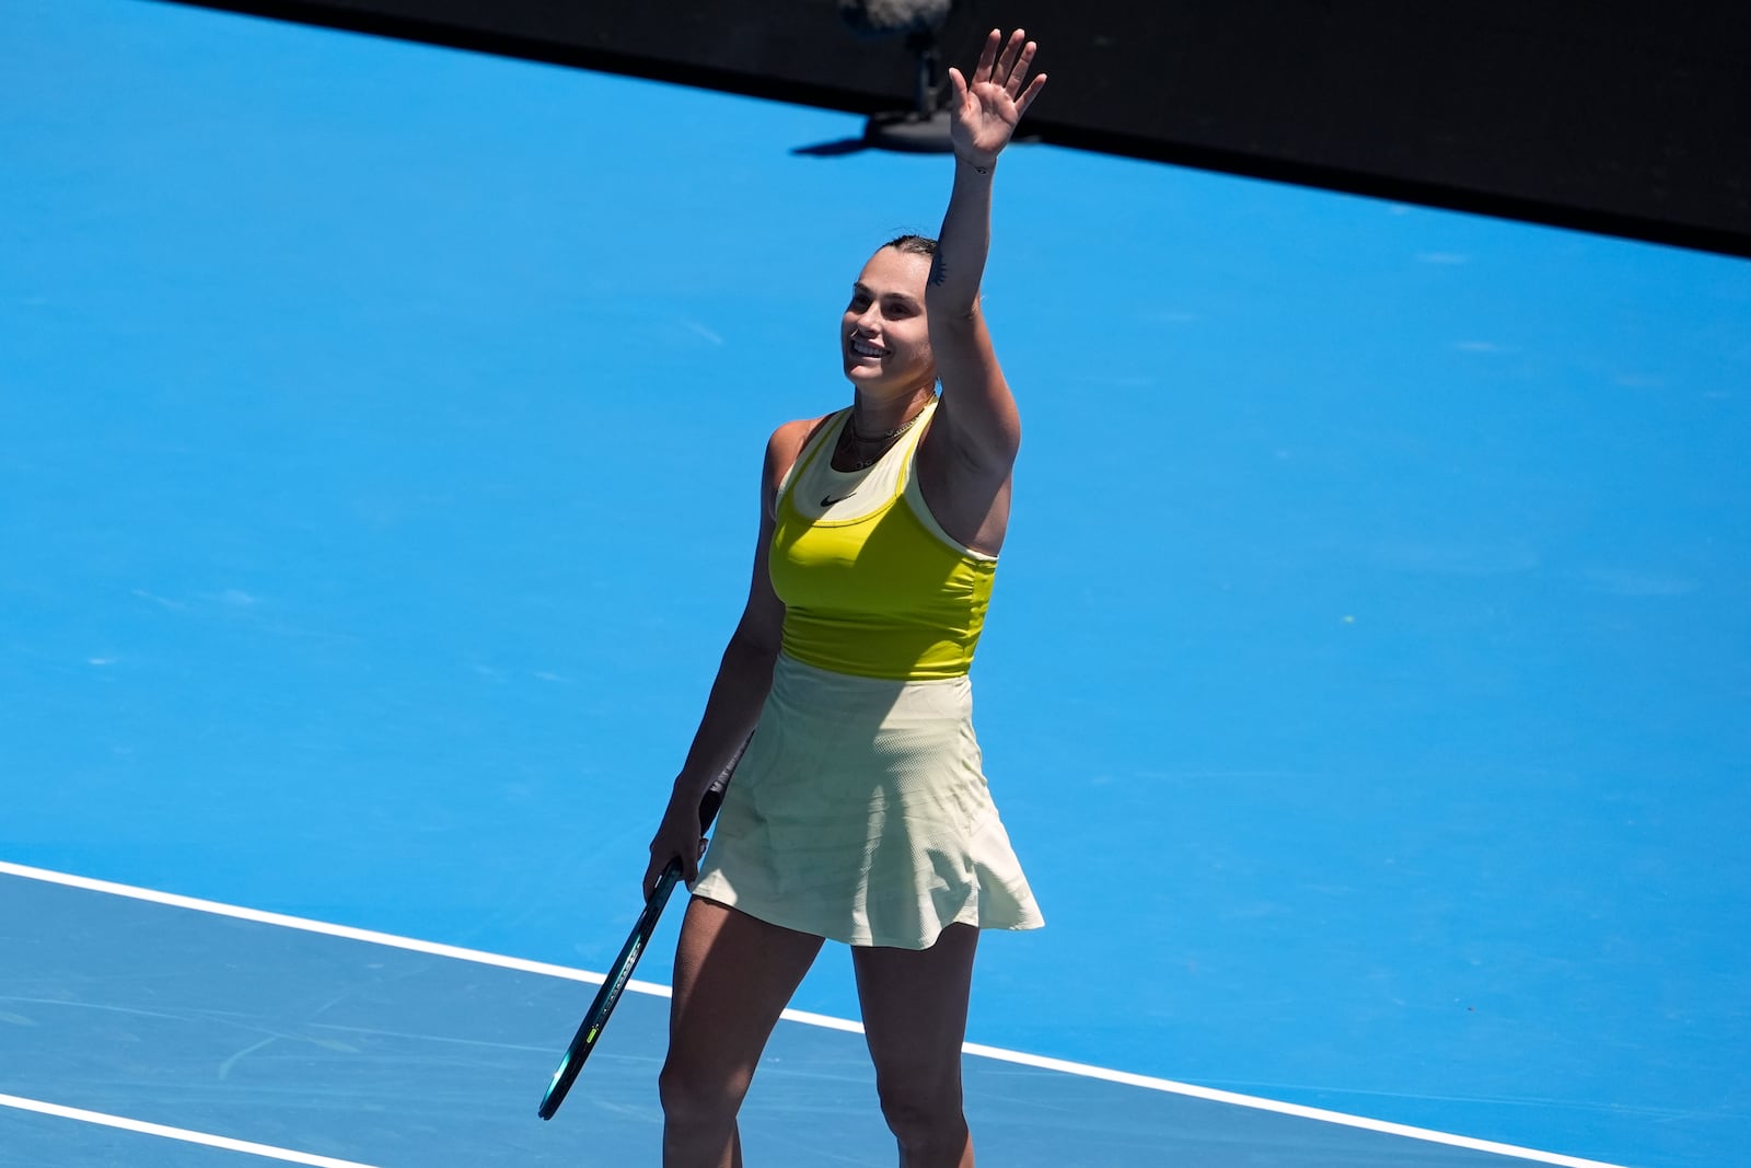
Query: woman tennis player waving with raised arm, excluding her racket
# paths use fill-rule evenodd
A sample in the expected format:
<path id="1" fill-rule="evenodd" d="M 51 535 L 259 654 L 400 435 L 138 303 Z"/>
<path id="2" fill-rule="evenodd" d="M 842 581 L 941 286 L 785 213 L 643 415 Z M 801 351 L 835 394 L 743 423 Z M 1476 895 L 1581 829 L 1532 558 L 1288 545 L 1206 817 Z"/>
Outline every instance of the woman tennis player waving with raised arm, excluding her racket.
<path id="1" fill-rule="evenodd" d="M 1040 912 L 986 790 L 967 671 L 1009 524 L 1016 401 L 979 308 L 991 180 L 1045 84 L 993 32 L 949 70 L 940 240 L 881 247 L 839 322 L 853 403 L 767 445 L 748 608 L 651 841 L 693 888 L 662 1070 L 664 1164 L 742 1163 L 735 1114 L 823 939 L 851 946 L 904 1168 L 974 1163 L 961 1038 L 981 928 Z M 940 380 L 942 394 L 935 392 Z M 753 732 L 699 863 L 699 804 Z"/>

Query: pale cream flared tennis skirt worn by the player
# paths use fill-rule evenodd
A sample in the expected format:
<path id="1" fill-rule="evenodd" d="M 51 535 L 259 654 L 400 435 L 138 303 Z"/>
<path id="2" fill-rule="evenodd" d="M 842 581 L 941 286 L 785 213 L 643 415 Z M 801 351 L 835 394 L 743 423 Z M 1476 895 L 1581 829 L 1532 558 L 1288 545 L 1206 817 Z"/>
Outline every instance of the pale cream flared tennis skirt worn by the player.
<path id="1" fill-rule="evenodd" d="M 968 679 L 853 678 L 784 655 L 693 895 L 853 946 L 1045 923 L 986 788 Z"/>

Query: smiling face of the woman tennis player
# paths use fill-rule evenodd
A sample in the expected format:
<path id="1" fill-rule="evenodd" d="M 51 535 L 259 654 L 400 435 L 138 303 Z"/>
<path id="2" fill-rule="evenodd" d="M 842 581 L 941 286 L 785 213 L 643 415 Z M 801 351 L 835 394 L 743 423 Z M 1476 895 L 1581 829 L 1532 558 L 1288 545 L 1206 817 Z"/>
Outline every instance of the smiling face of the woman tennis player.
<path id="1" fill-rule="evenodd" d="M 860 392 L 883 398 L 914 392 L 937 380 L 925 319 L 930 256 L 884 247 L 863 264 L 851 303 L 839 320 L 846 376 Z"/>

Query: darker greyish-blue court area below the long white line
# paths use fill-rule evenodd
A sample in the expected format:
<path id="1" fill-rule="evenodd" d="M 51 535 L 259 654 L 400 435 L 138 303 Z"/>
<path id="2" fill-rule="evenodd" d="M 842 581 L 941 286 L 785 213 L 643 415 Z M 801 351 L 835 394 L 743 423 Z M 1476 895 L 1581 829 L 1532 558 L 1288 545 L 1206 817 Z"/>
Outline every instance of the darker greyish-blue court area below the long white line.
<path id="1" fill-rule="evenodd" d="M 0 975 L 12 989 L 0 1096 L 79 1098 L 84 1110 L 350 1163 L 658 1159 L 650 1082 L 667 1021 L 660 996 L 629 995 L 615 1042 L 559 1119 L 529 1122 L 553 1035 L 587 998 L 574 981 L 16 874 L 0 881 Z M 46 919 L 77 926 L 49 933 Z M 860 1035 L 788 1021 L 744 1115 L 746 1150 L 769 1163 L 891 1163 L 874 1091 Z M 993 1163 L 1525 1163 L 979 1056 L 967 1061 L 967 1105 Z M 0 1163 L 79 1163 L 74 1149 L 93 1140 L 138 1164 L 214 1154 L 74 1119 L 39 1121 L 19 1138 L 12 1154 L 25 1156 Z"/>

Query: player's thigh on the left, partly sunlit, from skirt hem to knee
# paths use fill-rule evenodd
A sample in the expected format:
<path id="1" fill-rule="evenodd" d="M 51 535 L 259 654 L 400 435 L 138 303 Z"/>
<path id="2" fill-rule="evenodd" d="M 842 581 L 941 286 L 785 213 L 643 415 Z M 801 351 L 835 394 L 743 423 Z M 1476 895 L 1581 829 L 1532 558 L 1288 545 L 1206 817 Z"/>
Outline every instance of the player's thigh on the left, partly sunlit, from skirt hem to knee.
<path id="1" fill-rule="evenodd" d="M 674 953 L 669 1063 L 707 1077 L 753 1075 L 772 1026 L 821 939 L 693 897 Z"/>

